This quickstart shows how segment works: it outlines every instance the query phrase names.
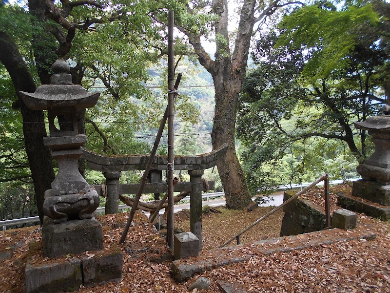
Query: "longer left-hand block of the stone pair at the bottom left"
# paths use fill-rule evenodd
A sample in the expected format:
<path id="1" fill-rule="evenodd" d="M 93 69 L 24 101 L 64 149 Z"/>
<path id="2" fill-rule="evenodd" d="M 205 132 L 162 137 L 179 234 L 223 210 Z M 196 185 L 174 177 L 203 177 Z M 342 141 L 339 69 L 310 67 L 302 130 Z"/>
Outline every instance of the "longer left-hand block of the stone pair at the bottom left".
<path id="1" fill-rule="evenodd" d="M 71 292 L 82 284 L 81 261 L 59 260 L 50 264 L 31 264 L 27 261 L 25 273 L 26 293 Z"/>

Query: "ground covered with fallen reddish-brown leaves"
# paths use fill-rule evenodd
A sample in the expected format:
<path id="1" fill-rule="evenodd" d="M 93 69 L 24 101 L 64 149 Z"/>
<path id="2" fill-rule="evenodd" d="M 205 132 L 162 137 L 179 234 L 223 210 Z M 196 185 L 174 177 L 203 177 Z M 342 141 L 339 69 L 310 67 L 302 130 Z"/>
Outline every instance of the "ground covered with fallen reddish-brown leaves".
<path id="1" fill-rule="evenodd" d="M 331 189 L 331 192 L 335 192 Z M 321 205 L 321 192 L 308 193 Z M 230 211 L 211 213 L 203 217 L 203 239 L 205 249 L 200 257 L 212 253 L 207 248 L 218 247 L 221 242 L 233 236 L 236 231 L 253 223 L 271 208 L 259 208 L 252 212 Z M 279 211 L 255 226 L 253 234 L 244 234 L 243 242 L 277 237 L 283 212 Z M 185 217 L 178 219 L 184 230 L 188 230 Z M 118 241 L 127 214 L 101 216 L 106 250 L 121 249 L 124 255 L 124 279 L 119 284 L 109 283 L 92 288 L 81 288 L 88 293 L 109 292 L 189 292 L 195 278 L 186 283 L 176 284 L 170 276 L 171 262 L 163 261 L 169 252 L 164 239 L 147 224 L 147 219 L 136 213 L 136 225 L 129 230 L 125 245 Z M 243 263 L 220 267 L 201 276 L 211 280 L 211 287 L 203 292 L 220 292 L 218 282 L 226 280 L 240 283 L 248 292 L 390 292 L 390 223 L 358 214 L 359 227 L 377 234 L 374 240 L 342 241 L 331 245 L 272 255 L 253 255 Z M 250 230 L 251 231 L 251 230 Z M 338 233 L 342 230 L 337 230 Z M 343 233 L 348 231 L 343 231 Z M 41 241 L 37 227 L 7 230 L 0 233 L 0 280 L 1 292 L 24 292 L 24 268 L 28 243 Z M 307 243 L 308 236 L 300 236 Z M 142 250 L 147 247 L 148 249 Z M 250 243 L 242 250 L 248 250 Z M 88 252 L 90 255 L 91 252 Z M 84 253 L 86 254 L 86 253 Z M 84 255 L 83 254 L 83 255 Z M 80 257 L 81 255 L 78 255 Z M 156 262 L 160 259 L 162 262 Z M 42 255 L 35 255 L 34 262 L 51 262 Z"/>

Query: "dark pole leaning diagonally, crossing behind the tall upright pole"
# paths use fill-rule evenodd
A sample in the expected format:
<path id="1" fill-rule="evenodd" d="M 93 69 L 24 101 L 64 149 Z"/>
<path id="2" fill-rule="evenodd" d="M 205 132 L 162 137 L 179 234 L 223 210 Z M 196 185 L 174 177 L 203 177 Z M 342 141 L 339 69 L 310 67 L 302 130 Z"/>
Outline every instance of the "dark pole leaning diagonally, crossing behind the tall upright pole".
<path id="1" fill-rule="evenodd" d="M 182 76 L 181 73 L 177 74 L 176 83 L 175 83 L 175 88 L 176 89 L 178 88 L 178 86 L 180 84 L 181 76 Z M 119 243 L 124 243 L 125 240 L 126 240 L 127 232 L 129 231 L 131 221 L 133 221 L 134 214 L 136 213 L 136 209 L 137 209 L 137 206 L 138 206 L 139 199 L 141 197 L 142 190 L 143 190 L 143 188 L 145 186 L 146 179 L 148 178 L 150 167 L 152 167 L 152 162 L 153 162 L 153 159 L 155 158 L 157 147 L 158 147 L 158 144 L 160 143 L 160 139 L 161 139 L 161 136 L 162 136 L 162 132 L 164 131 L 165 124 L 167 123 L 167 118 L 168 118 L 168 106 L 165 108 L 164 116 L 161 119 L 160 127 L 158 128 L 158 131 L 157 131 L 155 144 L 153 145 L 152 151 L 150 153 L 148 164 L 146 165 L 145 172 L 142 175 L 141 182 L 139 184 L 139 188 L 138 188 L 136 197 L 134 199 L 133 207 L 131 208 L 129 217 L 127 218 L 126 226 L 125 226 L 125 228 L 124 228 L 124 230 L 122 232 L 122 236 L 120 238 Z M 165 200 L 163 200 L 162 202 L 165 202 Z M 161 209 L 161 207 L 160 207 L 160 209 Z"/>

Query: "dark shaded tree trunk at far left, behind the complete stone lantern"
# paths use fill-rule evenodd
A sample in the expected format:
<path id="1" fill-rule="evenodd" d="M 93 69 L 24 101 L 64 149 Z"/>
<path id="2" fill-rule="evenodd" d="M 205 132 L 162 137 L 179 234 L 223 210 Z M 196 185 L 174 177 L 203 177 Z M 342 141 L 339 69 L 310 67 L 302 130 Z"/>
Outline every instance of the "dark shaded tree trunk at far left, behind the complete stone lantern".
<path id="1" fill-rule="evenodd" d="M 18 97 L 20 90 L 33 93 L 36 89 L 33 77 L 28 72 L 17 46 L 3 32 L 0 32 L 0 47 L 0 62 L 7 69 Z M 51 182 L 55 177 L 50 151 L 43 145 L 43 137 L 47 136 L 45 121 L 42 111 L 28 109 L 20 97 L 18 105 L 23 118 L 24 144 L 34 182 L 39 219 L 42 223 L 44 192 L 51 188 Z"/>

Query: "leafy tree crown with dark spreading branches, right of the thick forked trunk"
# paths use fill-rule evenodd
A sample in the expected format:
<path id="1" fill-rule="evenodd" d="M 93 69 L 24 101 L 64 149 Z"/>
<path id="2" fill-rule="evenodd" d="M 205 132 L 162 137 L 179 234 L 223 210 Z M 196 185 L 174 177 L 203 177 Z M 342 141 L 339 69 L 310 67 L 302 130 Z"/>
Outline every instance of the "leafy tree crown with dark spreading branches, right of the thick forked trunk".
<path id="1" fill-rule="evenodd" d="M 342 11 L 314 4 L 297 8 L 261 36 L 237 124 L 253 192 L 323 173 L 334 179 L 357 175 L 372 144 L 353 123 L 378 112 L 375 103 L 384 102 L 383 76 L 389 74 L 379 20 L 370 4 Z"/>

